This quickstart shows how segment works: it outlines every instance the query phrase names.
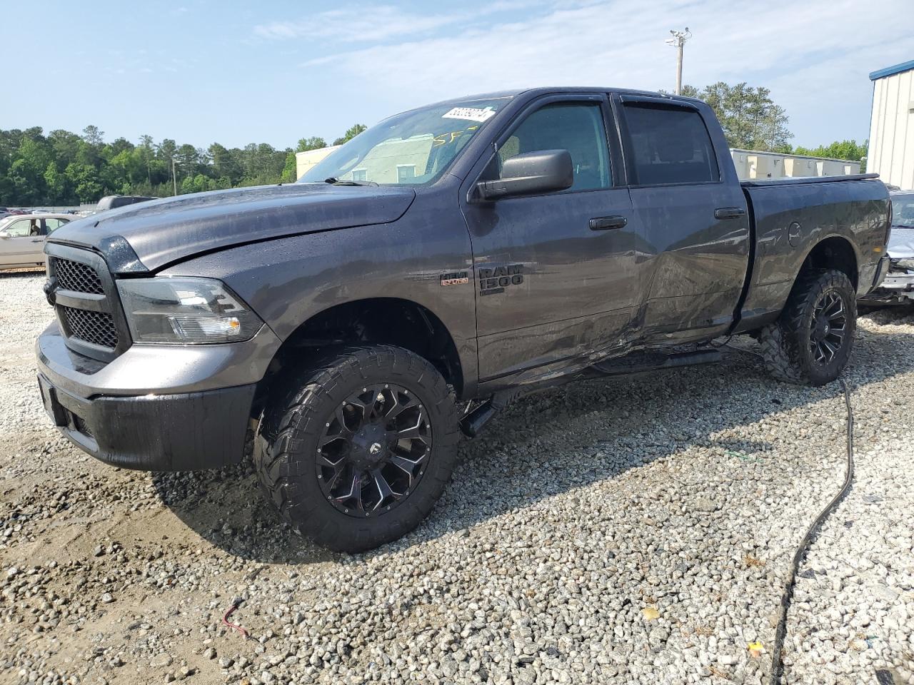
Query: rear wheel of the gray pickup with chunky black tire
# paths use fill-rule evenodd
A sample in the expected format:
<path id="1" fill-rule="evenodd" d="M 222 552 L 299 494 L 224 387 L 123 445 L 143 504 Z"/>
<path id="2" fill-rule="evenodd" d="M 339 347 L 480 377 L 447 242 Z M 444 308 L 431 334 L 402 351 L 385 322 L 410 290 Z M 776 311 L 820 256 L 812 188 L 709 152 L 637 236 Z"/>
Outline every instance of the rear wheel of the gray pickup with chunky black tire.
<path id="1" fill-rule="evenodd" d="M 803 274 L 778 321 L 759 335 L 771 374 L 802 385 L 824 385 L 845 368 L 854 347 L 856 292 L 836 270 Z"/>

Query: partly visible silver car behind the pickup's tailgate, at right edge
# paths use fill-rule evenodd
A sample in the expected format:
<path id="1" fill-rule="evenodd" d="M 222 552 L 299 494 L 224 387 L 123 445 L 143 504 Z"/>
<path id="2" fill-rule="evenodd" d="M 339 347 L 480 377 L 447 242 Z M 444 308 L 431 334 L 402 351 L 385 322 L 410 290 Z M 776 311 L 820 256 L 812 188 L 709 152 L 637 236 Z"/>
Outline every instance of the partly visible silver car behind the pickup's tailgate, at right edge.
<path id="1" fill-rule="evenodd" d="M 914 190 L 889 196 L 892 198 L 889 267 L 882 285 L 860 300 L 861 304 L 870 306 L 914 303 Z"/>

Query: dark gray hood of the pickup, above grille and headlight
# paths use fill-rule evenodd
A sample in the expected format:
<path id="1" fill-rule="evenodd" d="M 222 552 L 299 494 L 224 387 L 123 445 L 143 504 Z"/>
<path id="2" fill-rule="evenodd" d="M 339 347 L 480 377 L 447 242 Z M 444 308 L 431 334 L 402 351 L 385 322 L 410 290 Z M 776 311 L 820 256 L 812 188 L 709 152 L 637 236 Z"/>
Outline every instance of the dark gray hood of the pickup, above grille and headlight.
<path id="1" fill-rule="evenodd" d="M 101 252 L 115 273 L 154 271 L 202 252 L 334 228 L 396 221 L 411 188 L 288 184 L 126 205 L 73 221 L 48 240 Z"/>

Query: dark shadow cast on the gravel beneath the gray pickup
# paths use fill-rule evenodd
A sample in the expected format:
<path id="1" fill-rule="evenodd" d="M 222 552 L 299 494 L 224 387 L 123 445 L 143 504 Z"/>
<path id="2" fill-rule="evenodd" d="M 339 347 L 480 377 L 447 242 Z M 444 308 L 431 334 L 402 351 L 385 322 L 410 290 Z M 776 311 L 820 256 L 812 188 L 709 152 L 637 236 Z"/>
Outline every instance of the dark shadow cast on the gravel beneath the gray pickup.
<path id="1" fill-rule="evenodd" d="M 869 318 L 880 325 L 914 323 L 909 311 L 879 311 Z M 417 531 L 358 556 L 396 552 L 462 531 L 696 445 L 757 458 L 753 455 L 768 449 L 767 444 L 710 436 L 841 395 L 836 383 L 820 388 L 778 383 L 749 354 L 755 344 L 739 344 L 748 352 L 728 351 L 716 366 L 573 383 L 518 400 L 481 437 L 462 442 L 451 485 Z M 852 391 L 914 371 L 914 356 L 905 353 L 912 344 L 914 334 L 860 332 L 847 374 Z M 733 385 L 741 385 L 738 394 Z M 585 429 L 572 427 L 581 420 Z M 563 441 L 560 448 L 543 444 L 557 438 Z M 605 452 L 598 456 L 610 443 L 621 451 L 611 458 Z M 155 473 L 153 482 L 159 497 L 189 528 L 239 558 L 270 564 L 348 558 L 294 534 L 263 499 L 249 464 Z"/>

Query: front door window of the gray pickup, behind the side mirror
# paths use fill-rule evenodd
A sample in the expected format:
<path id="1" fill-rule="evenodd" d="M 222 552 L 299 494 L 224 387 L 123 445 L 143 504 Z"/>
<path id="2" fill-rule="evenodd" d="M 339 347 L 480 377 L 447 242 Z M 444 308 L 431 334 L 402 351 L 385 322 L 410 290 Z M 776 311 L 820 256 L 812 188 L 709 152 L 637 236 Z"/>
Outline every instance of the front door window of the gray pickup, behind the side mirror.
<path id="1" fill-rule="evenodd" d="M 568 150 L 574 164 L 569 190 L 610 186 L 610 153 L 599 103 L 547 105 L 530 114 L 498 151 L 499 163 L 516 154 Z"/>

